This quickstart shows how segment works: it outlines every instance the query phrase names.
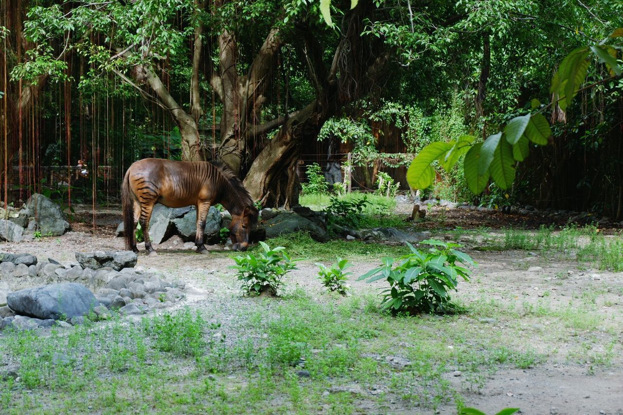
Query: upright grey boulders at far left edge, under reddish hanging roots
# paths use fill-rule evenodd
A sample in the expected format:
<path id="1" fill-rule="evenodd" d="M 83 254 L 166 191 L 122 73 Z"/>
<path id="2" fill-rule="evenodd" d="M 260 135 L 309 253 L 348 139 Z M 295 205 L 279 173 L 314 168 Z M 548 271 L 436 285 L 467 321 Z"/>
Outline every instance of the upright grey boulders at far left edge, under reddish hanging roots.
<path id="1" fill-rule="evenodd" d="M 33 194 L 21 209 L 0 208 L 0 241 L 32 241 L 36 232 L 42 236 L 59 236 L 69 229 L 60 206 L 42 194 Z"/>

